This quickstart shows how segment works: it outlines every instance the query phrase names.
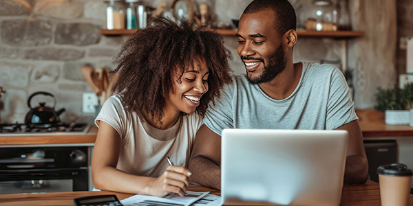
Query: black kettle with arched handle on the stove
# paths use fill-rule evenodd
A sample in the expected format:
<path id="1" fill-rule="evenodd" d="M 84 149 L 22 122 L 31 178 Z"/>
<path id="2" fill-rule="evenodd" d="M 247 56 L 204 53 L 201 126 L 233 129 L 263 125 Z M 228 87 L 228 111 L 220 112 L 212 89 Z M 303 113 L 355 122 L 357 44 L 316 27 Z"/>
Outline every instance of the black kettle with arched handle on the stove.
<path id="1" fill-rule="evenodd" d="M 39 102 L 39 106 L 32 108 L 30 100 L 36 95 L 50 96 L 54 100 L 52 107 L 46 106 L 45 102 Z M 59 115 L 65 111 L 65 108 L 61 108 L 59 111 L 54 111 L 54 105 L 56 105 L 56 99 L 54 95 L 45 91 L 39 91 L 30 95 L 28 99 L 28 106 L 30 111 L 25 116 L 25 124 L 56 124 L 60 122 Z"/>

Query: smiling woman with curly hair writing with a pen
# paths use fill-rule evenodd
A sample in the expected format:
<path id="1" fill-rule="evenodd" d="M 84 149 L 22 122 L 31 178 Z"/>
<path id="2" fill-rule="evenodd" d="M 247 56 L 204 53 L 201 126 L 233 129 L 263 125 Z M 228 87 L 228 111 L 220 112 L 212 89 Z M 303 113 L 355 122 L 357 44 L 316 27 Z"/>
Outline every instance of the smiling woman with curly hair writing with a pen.
<path id="1" fill-rule="evenodd" d="M 185 168 L 209 102 L 231 82 L 222 38 L 165 18 L 151 19 L 116 58 L 119 91 L 95 123 L 92 178 L 100 190 L 184 196 Z M 166 157 L 175 166 L 169 166 Z"/>

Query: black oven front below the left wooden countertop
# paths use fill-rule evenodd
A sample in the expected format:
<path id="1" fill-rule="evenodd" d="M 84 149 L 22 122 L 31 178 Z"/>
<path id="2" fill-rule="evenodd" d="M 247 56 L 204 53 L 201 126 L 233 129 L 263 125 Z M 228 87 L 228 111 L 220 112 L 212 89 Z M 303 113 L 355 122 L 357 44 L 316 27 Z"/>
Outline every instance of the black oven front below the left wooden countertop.
<path id="1" fill-rule="evenodd" d="M 0 150 L 0 194 L 87 190 L 86 146 Z"/>

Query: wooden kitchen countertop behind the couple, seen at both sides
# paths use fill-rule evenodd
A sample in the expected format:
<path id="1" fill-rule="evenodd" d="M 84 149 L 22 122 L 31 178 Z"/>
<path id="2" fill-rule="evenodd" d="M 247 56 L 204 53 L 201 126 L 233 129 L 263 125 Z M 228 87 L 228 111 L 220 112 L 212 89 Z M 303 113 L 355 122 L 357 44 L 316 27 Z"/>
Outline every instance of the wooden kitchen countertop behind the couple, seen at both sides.
<path id="1" fill-rule="evenodd" d="M 363 139 L 372 137 L 413 137 L 413 127 L 384 124 L 384 113 L 375 110 L 357 110 Z M 89 144 L 93 146 L 98 128 L 92 125 L 84 135 L 62 133 L 54 136 L 0 137 L 0 146 L 39 144 Z"/>

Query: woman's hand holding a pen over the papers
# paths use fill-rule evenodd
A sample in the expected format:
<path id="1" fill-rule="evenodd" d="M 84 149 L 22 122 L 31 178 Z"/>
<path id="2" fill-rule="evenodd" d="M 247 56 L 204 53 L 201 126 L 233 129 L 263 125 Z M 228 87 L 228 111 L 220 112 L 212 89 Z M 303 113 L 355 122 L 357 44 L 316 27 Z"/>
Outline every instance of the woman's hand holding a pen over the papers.
<path id="1" fill-rule="evenodd" d="M 169 166 L 158 178 L 149 181 L 145 191 L 153 196 L 166 196 L 173 192 L 184 196 L 189 187 L 191 172 L 182 166 Z"/>

